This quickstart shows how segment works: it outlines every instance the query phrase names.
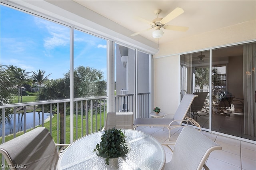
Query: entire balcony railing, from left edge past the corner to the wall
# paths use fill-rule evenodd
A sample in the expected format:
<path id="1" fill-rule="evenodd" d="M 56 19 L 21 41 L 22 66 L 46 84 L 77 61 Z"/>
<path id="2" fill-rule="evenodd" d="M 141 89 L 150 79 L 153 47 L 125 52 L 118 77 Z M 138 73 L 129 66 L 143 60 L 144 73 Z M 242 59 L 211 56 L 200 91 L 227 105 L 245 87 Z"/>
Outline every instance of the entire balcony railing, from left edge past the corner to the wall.
<path id="1" fill-rule="evenodd" d="M 149 117 L 150 113 L 150 93 L 140 93 L 137 95 L 137 109 L 135 111 L 134 94 L 132 95 L 116 95 L 115 96 L 115 112 L 134 112 L 135 118 Z M 78 139 L 87 134 L 102 130 L 104 127 L 105 116 L 107 112 L 107 97 L 90 97 L 74 99 L 74 139 Z M 125 104 L 125 105 L 124 105 Z M 70 134 L 70 99 L 55 100 L 55 101 L 40 101 L 31 103 L 15 103 L 8 105 L 0 105 L 0 112 L 2 116 L 2 126 L 0 137 L 1 144 L 6 140 L 6 125 L 4 118 L 7 114 L 12 115 L 12 127 L 7 135 L 15 138 L 20 133 L 26 133 L 30 128 L 43 126 L 48 128 L 50 133 L 54 136 L 57 143 L 69 143 Z M 12 113 L 7 113 L 7 109 L 11 109 Z M 22 111 L 20 111 L 22 109 Z M 48 121 L 45 122 L 45 114 L 48 113 Z M 16 117 L 16 114 L 21 114 Z M 39 116 L 40 115 L 40 116 Z M 36 116 L 40 117 L 39 125 L 36 125 Z M 32 117 L 32 125 L 28 127 L 26 121 L 27 117 Z M 62 119 L 63 118 L 63 119 Z M 20 123 L 16 123 L 21 119 Z M 65 121 L 61 121 L 65 120 Z M 56 125 L 52 125 L 52 121 Z M 18 126 L 21 126 L 19 128 Z M 61 127 L 63 132 L 61 131 Z M 16 130 L 18 129 L 18 130 Z M 20 132 L 21 131 L 21 132 Z M 62 134 L 61 134 L 62 133 Z M 18 135 L 17 135 L 18 134 Z M 63 135 L 61 137 L 61 135 Z M 10 137 L 8 137 L 10 138 Z M 9 139 L 8 139 L 9 140 Z M 63 141 L 60 141 L 63 140 Z"/>

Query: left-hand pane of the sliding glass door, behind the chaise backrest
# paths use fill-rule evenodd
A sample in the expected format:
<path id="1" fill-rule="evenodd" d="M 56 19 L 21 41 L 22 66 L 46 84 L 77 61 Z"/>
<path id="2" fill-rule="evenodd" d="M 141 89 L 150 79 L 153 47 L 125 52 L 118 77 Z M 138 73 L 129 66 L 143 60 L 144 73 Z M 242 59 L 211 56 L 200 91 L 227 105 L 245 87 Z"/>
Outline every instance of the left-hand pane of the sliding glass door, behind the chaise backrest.
<path id="1" fill-rule="evenodd" d="M 202 128 L 209 129 L 210 51 L 180 56 L 180 100 L 185 94 L 196 94 L 188 113 Z"/>

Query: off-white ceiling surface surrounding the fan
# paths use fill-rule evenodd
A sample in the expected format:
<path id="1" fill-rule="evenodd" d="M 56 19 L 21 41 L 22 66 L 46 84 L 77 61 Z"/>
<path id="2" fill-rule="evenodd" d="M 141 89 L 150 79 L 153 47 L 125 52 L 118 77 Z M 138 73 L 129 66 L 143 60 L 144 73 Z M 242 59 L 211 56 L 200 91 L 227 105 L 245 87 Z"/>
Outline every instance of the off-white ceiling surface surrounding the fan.
<path id="1" fill-rule="evenodd" d="M 150 28 L 147 23 L 138 21 L 136 17 L 152 21 L 157 18 L 154 10 L 161 9 L 159 18 L 164 18 L 176 7 L 184 13 L 168 22 L 168 25 L 187 26 L 186 32 L 163 30 L 164 35 L 159 44 L 209 32 L 234 24 L 256 20 L 255 0 L 74 0 L 78 4 L 118 23 L 132 32 L 140 32 Z M 141 36 L 158 43 L 152 37 L 152 29 L 140 34 Z"/>

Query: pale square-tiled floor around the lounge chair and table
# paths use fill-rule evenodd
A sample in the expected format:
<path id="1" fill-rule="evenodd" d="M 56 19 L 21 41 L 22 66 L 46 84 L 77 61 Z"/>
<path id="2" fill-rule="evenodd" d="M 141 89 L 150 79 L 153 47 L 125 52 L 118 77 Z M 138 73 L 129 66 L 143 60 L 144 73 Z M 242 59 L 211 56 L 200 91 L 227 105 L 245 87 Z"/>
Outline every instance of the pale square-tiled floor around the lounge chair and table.
<path id="1" fill-rule="evenodd" d="M 160 127 L 137 127 L 147 134 L 156 138 L 160 143 L 168 141 L 169 132 L 165 128 Z M 181 128 L 176 128 L 171 131 L 169 142 L 175 142 L 180 134 Z M 214 150 L 211 152 L 206 165 L 210 170 L 256 170 L 256 144 L 212 134 L 201 131 L 205 136 L 222 146 L 222 150 Z M 165 146 L 166 162 L 169 162 L 172 157 L 172 152 Z M 171 146 L 173 148 L 173 146 Z"/>

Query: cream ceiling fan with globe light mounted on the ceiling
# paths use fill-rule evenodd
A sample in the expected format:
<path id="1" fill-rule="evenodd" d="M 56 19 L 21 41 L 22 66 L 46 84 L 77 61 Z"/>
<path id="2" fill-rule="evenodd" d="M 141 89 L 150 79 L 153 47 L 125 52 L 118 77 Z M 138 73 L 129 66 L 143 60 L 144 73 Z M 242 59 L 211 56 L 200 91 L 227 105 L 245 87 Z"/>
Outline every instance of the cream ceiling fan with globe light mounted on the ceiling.
<path id="1" fill-rule="evenodd" d="M 184 10 L 182 8 L 175 8 L 172 12 L 170 12 L 170 14 L 168 14 L 164 18 L 158 18 L 158 15 L 160 14 L 161 11 L 162 10 L 155 10 L 154 11 L 154 13 L 157 15 L 157 18 L 152 20 L 152 22 L 138 17 L 138 20 L 150 24 L 150 28 L 148 28 L 146 30 L 142 30 L 140 32 L 136 32 L 134 34 L 131 34 L 131 36 L 136 36 L 138 34 L 141 34 L 141 33 L 145 32 L 145 31 L 148 31 L 150 29 L 154 29 L 154 32 L 152 33 L 152 36 L 154 38 L 161 38 L 163 36 L 163 33 L 164 33 L 162 28 L 164 28 L 166 30 L 174 30 L 174 31 L 182 31 L 182 32 L 185 32 L 185 31 L 188 30 L 188 27 L 184 27 L 184 26 L 166 25 L 166 23 L 170 22 L 171 20 L 173 20 L 174 18 L 176 18 L 177 16 L 179 16 L 180 14 L 182 14 L 184 12 Z"/>

